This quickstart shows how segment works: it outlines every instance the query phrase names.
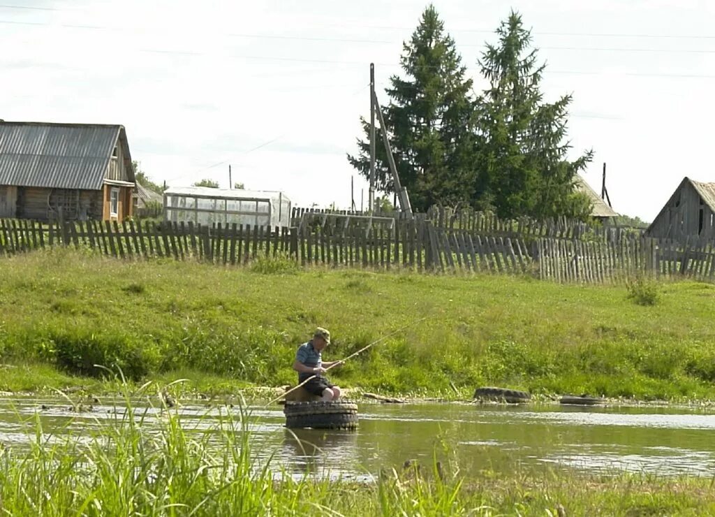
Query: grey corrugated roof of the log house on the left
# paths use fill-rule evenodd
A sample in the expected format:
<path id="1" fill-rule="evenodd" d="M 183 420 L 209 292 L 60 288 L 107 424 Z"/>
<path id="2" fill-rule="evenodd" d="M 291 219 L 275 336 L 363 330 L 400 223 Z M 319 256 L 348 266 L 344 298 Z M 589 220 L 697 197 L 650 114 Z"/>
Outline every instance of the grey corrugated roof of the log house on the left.
<path id="1" fill-rule="evenodd" d="M 0 184 L 102 188 L 119 125 L 0 122 Z"/>

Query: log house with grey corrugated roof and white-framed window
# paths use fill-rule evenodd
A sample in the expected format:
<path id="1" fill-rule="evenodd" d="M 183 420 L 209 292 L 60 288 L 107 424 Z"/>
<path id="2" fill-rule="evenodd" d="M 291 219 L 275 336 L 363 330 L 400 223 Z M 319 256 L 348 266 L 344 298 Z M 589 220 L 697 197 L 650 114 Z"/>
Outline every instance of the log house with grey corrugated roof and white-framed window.
<path id="1" fill-rule="evenodd" d="M 0 218 L 121 221 L 133 194 L 123 126 L 0 121 Z"/>

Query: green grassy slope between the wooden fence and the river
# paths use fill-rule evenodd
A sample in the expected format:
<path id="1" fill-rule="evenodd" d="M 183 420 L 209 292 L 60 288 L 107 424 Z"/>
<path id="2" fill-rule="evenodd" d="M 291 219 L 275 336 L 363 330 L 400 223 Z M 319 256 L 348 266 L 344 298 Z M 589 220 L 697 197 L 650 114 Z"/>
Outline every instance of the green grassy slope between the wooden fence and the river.
<path id="1" fill-rule="evenodd" d="M 715 399 L 713 285 L 659 285 L 655 305 L 638 305 L 626 287 L 298 271 L 280 261 L 225 269 L 51 250 L 0 267 L 0 390 L 91 385 L 95 364 L 134 380 L 187 377 L 202 390 L 281 385 L 294 382 L 295 348 L 316 325 L 334 336 L 332 360 L 414 322 L 335 379 L 423 396 L 503 385 Z"/>

